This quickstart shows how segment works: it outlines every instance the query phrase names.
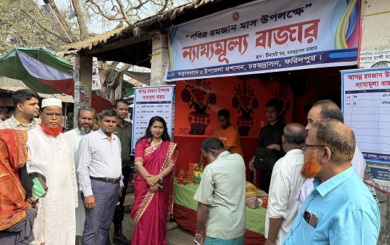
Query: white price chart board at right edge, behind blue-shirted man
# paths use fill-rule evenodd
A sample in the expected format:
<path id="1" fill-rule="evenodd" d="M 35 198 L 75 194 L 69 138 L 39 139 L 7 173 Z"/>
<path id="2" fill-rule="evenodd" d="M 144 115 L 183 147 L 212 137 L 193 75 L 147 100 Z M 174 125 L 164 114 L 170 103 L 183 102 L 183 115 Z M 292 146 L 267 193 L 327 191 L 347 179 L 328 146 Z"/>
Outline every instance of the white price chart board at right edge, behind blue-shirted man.
<path id="1" fill-rule="evenodd" d="M 364 158 L 390 163 L 390 69 L 342 72 L 342 112 Z"/>

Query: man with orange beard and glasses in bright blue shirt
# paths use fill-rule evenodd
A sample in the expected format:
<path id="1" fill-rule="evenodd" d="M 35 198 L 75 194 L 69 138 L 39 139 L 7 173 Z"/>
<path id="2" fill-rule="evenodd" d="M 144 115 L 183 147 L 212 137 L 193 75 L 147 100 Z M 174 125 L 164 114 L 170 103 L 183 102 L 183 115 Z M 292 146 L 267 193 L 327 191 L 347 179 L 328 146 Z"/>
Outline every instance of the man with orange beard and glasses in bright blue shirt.
<path id="1" fill-rule="evenodd" d="M 289 244 L 377 244 L 380 214 L 351 164 L 355 134 L 335 119 L 313 123 L 302 151 L 301 174 L 314 190 L 286 235 Z"/>

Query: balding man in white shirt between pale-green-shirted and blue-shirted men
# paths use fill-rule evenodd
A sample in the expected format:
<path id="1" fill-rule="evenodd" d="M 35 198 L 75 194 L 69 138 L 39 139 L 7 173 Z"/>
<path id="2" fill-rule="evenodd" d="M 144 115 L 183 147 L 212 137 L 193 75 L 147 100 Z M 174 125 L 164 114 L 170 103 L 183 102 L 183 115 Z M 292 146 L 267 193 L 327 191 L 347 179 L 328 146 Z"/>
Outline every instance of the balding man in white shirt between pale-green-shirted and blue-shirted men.
<path id="1" fill-rule="evenodd" d="M 305 181 L 301 175 L 301 144 L 305 142 L 306 134 L 305 126 L 301 124 L 284 126 L 282 147 L 286 155 L 275 163 L 272 170 L 265 219 L 266 245 L 282 244 L 298 213 L 299 203 L 295 197 Z"/>

